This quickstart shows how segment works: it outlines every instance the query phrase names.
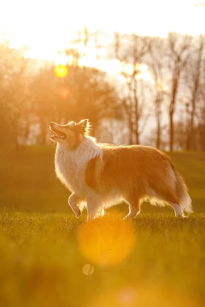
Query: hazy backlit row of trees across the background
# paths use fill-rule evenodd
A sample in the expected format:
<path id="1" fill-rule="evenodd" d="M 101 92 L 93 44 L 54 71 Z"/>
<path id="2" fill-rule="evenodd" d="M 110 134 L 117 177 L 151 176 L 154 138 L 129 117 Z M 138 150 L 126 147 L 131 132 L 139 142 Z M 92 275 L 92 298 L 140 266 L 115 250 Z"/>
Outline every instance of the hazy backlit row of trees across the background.
<path id="1" fill-rule="evenodd" d="M 46 144 L 50 121 L 89 118 L 93 134 L 105 141 L 205 149 L 204 36 L 114 33 L 105 39 L 87 28 L 78 34 L 69 49 L 59 52 L 68 59 L 64 66 L 25 58 L 24 47 L 11 49 L 2 41 L 2 142 L 15 148 Z M 91 47 L 96 58 L 104 50 L 104 59 L 120 63 L 115 79 L 82 64 Z"/>

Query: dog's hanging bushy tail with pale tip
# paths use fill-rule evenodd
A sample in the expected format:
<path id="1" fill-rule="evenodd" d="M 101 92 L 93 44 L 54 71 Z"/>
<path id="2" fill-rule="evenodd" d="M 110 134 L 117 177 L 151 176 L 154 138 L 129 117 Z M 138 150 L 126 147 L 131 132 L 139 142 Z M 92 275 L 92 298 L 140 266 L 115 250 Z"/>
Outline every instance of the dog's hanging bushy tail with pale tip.
<path id="1" fill-rule="evenodd" d="M 187 185 L 183 180 L 183 178 L 181 177 L 181 175 L 174 169 L 174 166 L 173 165 L 171 166 L 176 176 L 176 194 L 179 199 L 179 205 L 183 212 L 192 213 L 193 212 L 192 200 L 188 193 Z"/>

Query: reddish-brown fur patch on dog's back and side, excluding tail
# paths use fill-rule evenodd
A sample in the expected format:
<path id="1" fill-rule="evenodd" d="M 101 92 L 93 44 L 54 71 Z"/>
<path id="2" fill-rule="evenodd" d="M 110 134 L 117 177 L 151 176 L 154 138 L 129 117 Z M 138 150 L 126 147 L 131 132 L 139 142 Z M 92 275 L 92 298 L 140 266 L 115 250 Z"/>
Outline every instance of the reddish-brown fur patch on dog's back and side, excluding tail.
<path id="1" fill-rule="evenodd" d="M 161 181 L 168 173 L 174 176 L 170 158 L 155 148 L 108 144 L 99 144 L 99 147 L 103 149 L 103 159 L 90 160 L 86 182 L 101 192 L 137 189 L 145 194 L 150 186 L 154 187 L 156 180 Z"/>

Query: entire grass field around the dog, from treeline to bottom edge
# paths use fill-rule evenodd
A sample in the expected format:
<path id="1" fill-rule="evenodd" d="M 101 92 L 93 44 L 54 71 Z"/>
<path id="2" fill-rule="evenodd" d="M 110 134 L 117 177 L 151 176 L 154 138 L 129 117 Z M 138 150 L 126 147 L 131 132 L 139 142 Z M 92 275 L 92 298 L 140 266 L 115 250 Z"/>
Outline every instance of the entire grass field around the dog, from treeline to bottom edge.
<path id="1" fill-rule="evenodd" d="M 0 306 L 205 306 L 205 155 L 171 156 L 195 213 L 146 203 L 134 222 L 124 205 L 85 222 L 70 214 L 54 148 L 0 153 Z"/>

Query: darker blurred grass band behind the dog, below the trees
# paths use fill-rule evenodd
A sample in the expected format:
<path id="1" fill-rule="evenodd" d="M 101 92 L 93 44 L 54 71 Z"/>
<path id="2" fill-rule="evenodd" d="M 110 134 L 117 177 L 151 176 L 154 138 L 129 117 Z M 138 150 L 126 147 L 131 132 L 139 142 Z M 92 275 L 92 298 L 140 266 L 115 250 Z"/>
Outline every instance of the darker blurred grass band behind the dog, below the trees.
<path id="1" fill-rule="evenodd" d="M 55 148 L 28 146 L 22 151 L 0 150 L 0 210 L 27 212 L 72 212 L 68 206 L 69 191 L 54 171 Z M 196 212 L 205 208 L 205 152 L 171 152 L 175 168 L 185 178 Z M 119 206 L 118 206 L 119 208 Z M 128 210 L 127 206 L 121 206 Z M 172 212 L 170 208 L 151 207 L 145 203 L 142 212 Z"/>

